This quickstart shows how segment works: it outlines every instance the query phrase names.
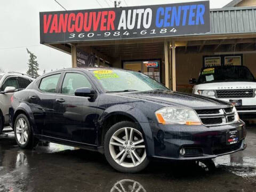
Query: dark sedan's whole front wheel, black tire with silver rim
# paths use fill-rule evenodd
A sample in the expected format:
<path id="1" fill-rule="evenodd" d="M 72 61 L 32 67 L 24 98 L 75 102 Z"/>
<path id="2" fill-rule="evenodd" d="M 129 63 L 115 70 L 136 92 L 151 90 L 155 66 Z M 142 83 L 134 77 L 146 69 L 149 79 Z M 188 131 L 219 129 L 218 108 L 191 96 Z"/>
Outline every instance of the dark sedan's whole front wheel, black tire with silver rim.
<path id="1" fill-rule="evenodd" d="M 124 173 L 139 172 L 149 164 L 142 129 L 129 121 L 110 127 L 105 135 L 104 154 L 115 170 Z"/>

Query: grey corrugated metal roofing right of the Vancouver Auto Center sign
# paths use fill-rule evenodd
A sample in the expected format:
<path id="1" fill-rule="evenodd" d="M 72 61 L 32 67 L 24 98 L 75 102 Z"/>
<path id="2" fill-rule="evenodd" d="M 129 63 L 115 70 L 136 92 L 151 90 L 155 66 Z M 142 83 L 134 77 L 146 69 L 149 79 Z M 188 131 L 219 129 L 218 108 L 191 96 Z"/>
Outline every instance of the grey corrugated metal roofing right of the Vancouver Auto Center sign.
<path id="1" fill-rule="evenodd" d="M 256 33 L 256 6 L 212 9 L 210 25 L 205 35 Z"/>

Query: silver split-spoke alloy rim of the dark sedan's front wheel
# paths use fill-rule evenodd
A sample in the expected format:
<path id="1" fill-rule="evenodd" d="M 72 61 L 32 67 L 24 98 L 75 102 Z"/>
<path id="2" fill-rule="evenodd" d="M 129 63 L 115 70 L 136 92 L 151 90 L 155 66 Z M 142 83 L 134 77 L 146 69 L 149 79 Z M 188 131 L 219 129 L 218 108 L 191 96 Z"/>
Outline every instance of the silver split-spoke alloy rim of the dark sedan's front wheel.
<path id="1" fill-rule="evenodd" d="M 123 127 L 112 135 L 109 151 L 114 161 L 123 167 L 138 166 L 146 158 L 142 133 L 132 127 Z"/>

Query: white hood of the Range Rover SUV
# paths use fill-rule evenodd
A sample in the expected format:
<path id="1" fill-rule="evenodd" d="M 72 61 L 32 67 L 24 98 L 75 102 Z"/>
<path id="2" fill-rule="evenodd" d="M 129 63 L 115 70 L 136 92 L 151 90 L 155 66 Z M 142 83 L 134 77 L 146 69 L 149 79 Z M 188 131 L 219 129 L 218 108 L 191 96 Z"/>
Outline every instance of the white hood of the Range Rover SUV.
<path id="1" fill-rule="evenodd" d="M 256 82 L 216 82 L 194 86 L 196 90 L 256 89 Z"/>

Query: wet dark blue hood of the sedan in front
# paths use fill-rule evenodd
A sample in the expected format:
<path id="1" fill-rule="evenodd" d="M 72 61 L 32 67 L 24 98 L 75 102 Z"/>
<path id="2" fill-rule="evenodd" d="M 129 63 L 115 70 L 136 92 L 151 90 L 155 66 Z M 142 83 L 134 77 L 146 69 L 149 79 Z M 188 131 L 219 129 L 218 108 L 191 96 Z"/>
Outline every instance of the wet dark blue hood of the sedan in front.
<path id="1" fill-rule="evenodd" d="M 113 94 L 113 93 L 110 93 Z M 143 91 L 114 93 L 118 97 L 128 97 L 148 102 L 159 103 L 163 106 L 186 107 L 192 109 L 214 109 L 229 107 L 230 103 L 202 97 L 195 94 L 186 94 L 173 91 Z"/>

